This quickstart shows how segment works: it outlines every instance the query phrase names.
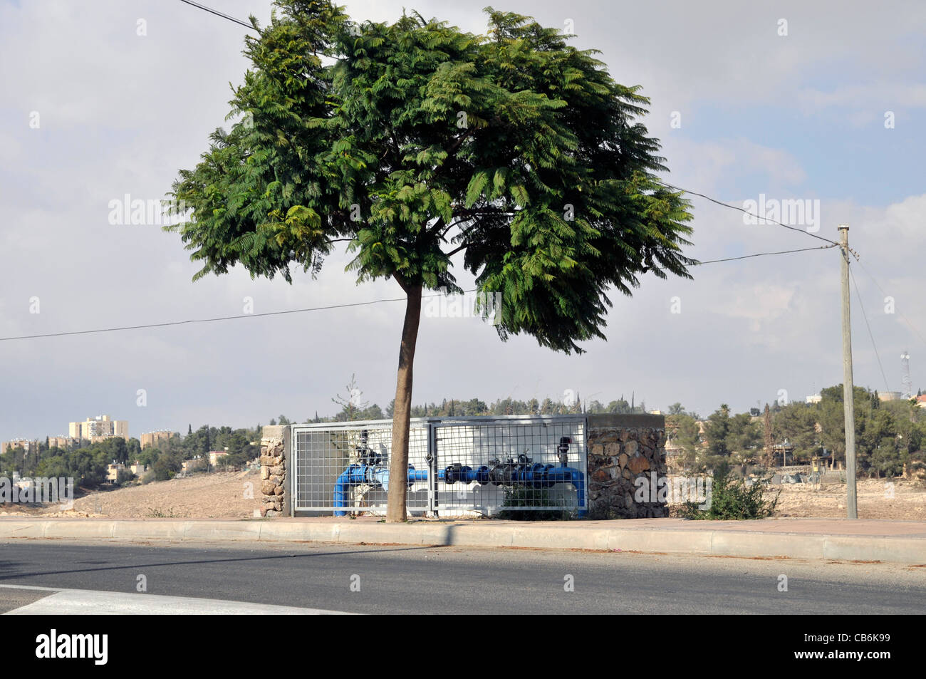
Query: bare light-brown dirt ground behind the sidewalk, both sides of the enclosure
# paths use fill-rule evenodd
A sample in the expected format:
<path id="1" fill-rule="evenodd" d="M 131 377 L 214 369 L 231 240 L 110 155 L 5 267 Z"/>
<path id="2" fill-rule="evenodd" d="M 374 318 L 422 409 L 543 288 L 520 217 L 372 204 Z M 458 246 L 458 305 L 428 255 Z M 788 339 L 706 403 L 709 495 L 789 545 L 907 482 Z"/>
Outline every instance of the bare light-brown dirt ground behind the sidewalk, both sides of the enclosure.
<path id="1" fill-rule="evenodd" d="M 250 484 L 250 485 L 248 485 Z M 782 484 L 776 517 L 845 517 L 845 484 Z M 252 497 L 246 497 L 248 490 Z M 893 497 L 888 482 L 859 480 L 859 519 L 926 521 L 926 484 L 898 480 Z M 99 491 L 78 497 L 74 509 L 57 506 L 0 506 L 0 516 L 100 516 L 119 519 L 245 519 L 254 516 L 260 472 L 214 472 L 182 479 Z"/>

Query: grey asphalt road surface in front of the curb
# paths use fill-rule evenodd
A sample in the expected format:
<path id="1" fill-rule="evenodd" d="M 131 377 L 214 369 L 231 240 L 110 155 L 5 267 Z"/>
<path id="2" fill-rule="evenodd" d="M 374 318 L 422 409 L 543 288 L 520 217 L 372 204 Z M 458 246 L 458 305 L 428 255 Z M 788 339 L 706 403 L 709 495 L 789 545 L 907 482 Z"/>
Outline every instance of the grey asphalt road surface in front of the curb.
<path id="1" fill-rule="evenodd" d="M 134 593 L 139 575 L 149 594 L 357 613 L 926 613 L 926 569 L 888 564 L 318 543 L 0 543 L 0 585 Z M 16 596 L 24 595 L 0 588 L 0 599 Z M 0 600 L 0 610 L 15 603 Z"/>

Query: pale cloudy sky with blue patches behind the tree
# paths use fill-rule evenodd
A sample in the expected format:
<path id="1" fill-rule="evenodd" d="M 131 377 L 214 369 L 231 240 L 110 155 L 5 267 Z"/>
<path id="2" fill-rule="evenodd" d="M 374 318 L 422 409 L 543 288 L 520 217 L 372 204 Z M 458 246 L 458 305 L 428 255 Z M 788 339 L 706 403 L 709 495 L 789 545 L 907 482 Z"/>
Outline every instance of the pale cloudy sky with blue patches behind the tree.
<path id="1" fill-rule="evenodd" d="M 269 0 L 205 4 L 261 22 L 271 10 Z M 346 3 L 358 20 L 392 21 L 407 7 L 473 32 L 485 29 L 482 6 Z M 738 207 L 810 208 L 788 230 L 692 197 L 686 255 L 826 245 L 807 232 L 837 239 L 848 223 L 860 256 L 855 383 L 902 390 L 908 350 L 913 390 L 926 386 L 926 4 L 495 7 L 570 30 L 572 44 L 600 50 L 617 82 L 642 87 L 642 121 L 661 141 L 667 182 Z M 343 254 L 292 285 L 241 269 L 193 283 L 179 235 L 111 223 L 112 201 L 160 200 L 208 134 L 229 124 L 231 87 L 248 68 L 245 31 L 179 0 L 0 0 L 0 340 L 243 315 L 248 298 L 257 314 L 401 296 L 393 282 L 357 285 Z M 578 392 L 604 402 L 634 395 L 647 409 L 681 402 L 707 416 L 721 403 L 740 412 L 842 383 L 838 249 L 692 273 L 647 274 L 632 297 L 612 295 L 607 341 L 585 343 L 581 356 L 529 336 L 503 343 L 478 319 L 422 318 L 414 402 Z M 458 264 L 457 277 L 471 281 Z M 352 375 L 363 400 L 384 408 L 403 307 L 3 340 L 0 440 L 67 434 L 69 421 L 102 413 L 128 420 L 135 436 L 280 414 L 304 421 L 337 411 L 332 396 L 346 394 Z"/>

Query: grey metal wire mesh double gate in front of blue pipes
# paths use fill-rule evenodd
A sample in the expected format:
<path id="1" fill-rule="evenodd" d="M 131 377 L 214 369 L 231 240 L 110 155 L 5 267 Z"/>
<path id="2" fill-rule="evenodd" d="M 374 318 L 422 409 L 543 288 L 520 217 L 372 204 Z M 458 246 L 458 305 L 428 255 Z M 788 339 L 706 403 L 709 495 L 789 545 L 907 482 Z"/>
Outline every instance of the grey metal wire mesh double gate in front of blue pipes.
<path id="1" fill-rule="evenodd" d="M 407 507 L 432 516 L 587 509 L 586 421 L 567 416 L 415 419 Z M 392 421 L 293 426 L 294 511 L 383 514 Z"/>

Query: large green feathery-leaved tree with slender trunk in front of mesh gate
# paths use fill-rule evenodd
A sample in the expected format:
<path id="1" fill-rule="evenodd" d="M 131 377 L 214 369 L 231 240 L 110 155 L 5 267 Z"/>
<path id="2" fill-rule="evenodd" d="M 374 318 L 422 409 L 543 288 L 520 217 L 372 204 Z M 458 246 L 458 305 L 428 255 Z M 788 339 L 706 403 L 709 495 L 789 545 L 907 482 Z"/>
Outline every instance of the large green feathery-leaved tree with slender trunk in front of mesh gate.
<path id="1" fill-rule="evenodd" d="M 422 291 L 462 292 L 505 340 L 582 352 L 604 337 L 612 289 L 647 271 L 690 278 L 688 203 L 657 181 L 648 100 L 594 52 L 491 8 L 474 35 L 418 13 L 351 21 L 327 0 L 276 0 L 232 116 L 171 196 L 194 279 L 315 274 L 346 242 L 357 283 L 406 295 L 396 373 L 387 521 L 405 521 L 408 431 Z M 491 302 L 489 300 L 492 300 Z M 500 300 L 500 304 L 495 304 Z"/>

